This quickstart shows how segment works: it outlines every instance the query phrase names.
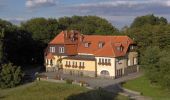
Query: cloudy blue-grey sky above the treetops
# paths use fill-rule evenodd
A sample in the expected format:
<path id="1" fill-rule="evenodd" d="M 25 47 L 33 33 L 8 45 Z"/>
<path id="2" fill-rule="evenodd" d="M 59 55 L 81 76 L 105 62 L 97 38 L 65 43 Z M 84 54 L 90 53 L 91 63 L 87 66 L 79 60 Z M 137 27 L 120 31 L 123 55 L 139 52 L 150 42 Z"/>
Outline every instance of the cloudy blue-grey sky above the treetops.
<path id="1" fill-rule="evenodd" d="M 170 0 L 0 0 L 0 18 L 13 23 L 35 17 L 96 15 L 122 28 L 146 14 L 170 21 Z"/>

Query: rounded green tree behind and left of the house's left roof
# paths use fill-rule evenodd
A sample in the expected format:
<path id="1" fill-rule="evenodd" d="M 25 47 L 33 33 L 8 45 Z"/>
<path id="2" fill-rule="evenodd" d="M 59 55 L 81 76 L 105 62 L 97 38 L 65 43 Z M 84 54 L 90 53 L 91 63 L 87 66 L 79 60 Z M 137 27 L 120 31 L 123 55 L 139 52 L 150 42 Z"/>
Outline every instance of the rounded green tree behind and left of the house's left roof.
<path id="1" fill-rule="evenodd" d="M 35 41 L 48 43 L 58 34 L 58 21 L 56 19 L 33 18 L 21 24 L 23 30 L 31 33 Z"/>

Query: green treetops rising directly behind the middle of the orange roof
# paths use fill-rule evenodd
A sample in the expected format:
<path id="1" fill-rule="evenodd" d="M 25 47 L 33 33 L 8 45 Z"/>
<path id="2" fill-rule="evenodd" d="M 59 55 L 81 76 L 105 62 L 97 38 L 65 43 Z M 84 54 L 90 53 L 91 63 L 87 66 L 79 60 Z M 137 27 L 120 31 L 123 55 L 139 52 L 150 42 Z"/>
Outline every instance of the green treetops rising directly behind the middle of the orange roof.
<path id="1" fill-rule="evenodd" d="M 62 30 L 78 30 L 83 34 L 114 35 L 118 30 L 106 19 L 97 16 L 72 16 L 59 18 Z"/>

